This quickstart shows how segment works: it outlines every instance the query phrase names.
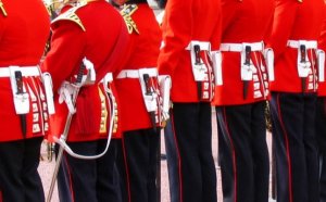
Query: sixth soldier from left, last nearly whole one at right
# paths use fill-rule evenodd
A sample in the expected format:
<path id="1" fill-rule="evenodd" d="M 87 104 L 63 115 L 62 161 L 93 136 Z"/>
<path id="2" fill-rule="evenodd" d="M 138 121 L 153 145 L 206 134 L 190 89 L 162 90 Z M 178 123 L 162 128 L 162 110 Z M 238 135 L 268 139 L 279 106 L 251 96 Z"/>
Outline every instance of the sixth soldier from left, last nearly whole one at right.
<path id="1" fill-rule="evenodd" d="M 318 201 L 315 51 L 324 0 L 276 0 L 267 47 L 275 53 L 271 113 L 279 202 Z M 313 14 L 312 14 L 313 13 Z"/>

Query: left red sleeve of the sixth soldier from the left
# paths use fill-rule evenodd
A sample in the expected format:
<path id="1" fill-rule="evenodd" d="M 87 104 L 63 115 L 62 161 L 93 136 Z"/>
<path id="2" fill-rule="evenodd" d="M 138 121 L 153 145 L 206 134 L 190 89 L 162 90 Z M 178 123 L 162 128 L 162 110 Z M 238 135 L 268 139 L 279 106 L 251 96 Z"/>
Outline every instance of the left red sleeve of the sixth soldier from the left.
<path id="1" fill-rule="evenodd" d="M 286 49 L 296 21 L 298 2 L 294 0 L 276 0 L 272 34 L 266 46 L 274 50 L 277 59 Z"/>

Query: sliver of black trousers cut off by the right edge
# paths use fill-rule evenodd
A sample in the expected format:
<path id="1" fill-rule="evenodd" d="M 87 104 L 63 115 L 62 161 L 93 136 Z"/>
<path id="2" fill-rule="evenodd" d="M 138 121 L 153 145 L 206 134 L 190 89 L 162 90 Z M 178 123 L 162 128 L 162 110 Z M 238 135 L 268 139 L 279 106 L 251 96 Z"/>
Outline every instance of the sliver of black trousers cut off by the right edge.
<path id="1" fill-rule="evenodd" d="M 326 98 L 316 102 L 316 139 L 319 155 L 319 202 L 326 202 Z"/>

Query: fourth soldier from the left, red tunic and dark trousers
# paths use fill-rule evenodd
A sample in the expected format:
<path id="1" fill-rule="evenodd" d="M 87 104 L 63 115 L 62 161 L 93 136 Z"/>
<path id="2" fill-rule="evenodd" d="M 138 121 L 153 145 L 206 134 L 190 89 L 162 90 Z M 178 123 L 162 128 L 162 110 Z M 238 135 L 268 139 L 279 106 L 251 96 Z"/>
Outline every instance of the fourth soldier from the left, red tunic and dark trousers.
<path id="1" fill-rule="evenodd" d="M 179 156 L 178 201 L 216 202 L 210 54 L 220 47 L 220 0 L 168 0 L 162 30 L 159 73 L 172 77 L 172 124 Z"/>

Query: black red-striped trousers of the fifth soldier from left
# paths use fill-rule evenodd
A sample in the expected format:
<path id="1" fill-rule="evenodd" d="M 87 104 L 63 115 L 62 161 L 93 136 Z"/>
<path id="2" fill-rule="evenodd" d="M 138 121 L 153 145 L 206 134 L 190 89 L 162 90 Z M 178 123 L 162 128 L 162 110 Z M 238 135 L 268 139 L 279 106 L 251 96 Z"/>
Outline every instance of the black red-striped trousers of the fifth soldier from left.
<path id="1" fill-rule="evenodd" d="M 267 202 L 265 102 L 216 108 L 224 202 Z"/>

